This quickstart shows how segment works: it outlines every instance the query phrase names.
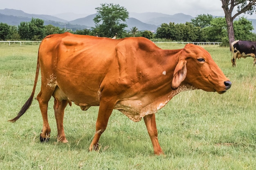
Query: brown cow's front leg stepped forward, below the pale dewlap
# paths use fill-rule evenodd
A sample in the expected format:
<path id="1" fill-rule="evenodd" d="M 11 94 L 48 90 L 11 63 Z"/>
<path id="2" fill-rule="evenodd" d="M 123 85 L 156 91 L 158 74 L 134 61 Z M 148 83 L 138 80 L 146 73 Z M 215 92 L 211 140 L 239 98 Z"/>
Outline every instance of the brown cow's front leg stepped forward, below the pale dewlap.
<path id="1" fill-rule="evenodd" d="M 164 154 L 157 138 L 157 125 L 155 123 L 155 114 L 146 115 L 144 117 L 144 122 L 148 129 L 148 135 L 152 141 L 155 155 Z"/>

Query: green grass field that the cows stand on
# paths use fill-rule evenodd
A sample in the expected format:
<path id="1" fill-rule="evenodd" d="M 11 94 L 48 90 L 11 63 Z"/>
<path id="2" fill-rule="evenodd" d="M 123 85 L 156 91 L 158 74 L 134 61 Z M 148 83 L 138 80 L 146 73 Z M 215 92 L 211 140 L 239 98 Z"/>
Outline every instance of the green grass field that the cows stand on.
<path id="1" fill-rule="evenodd" d="M 158 43 L 163 49 L 182 44 Z M 98 107 L 82 111 L 67 106 L 64 126 L 68 144 L 56 140 L 53 100 L 49 102 L 48 143 L 40 143 L 42 118 L 38 102 L 15 123 L 31 94 L 38 45 L 0 44 L 1 170 L 254 170 L 256 169 L 256 67 L 253 59 L 230 62 L 228 48 L 203 46 L 231 80 L 224 93 L 182 92 L 156 114 L 159 143 L 165 155 L 154 156 L 144 121 L 134 123 L 115 110 L 100 139 L 100 150 L 88 152 Z M 40 89 L 40 81 L 36 95 Z M 36 96 L 35 95 L 35 96 Z"/>

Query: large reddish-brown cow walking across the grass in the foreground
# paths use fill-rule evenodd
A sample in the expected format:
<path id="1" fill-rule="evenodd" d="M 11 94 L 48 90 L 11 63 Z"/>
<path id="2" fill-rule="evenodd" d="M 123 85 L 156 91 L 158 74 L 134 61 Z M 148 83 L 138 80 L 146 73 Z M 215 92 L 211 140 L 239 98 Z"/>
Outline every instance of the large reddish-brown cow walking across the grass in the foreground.
<path id="1" fill-rule="evenodd" d="M 202 89 L 224 93 L 231 82 L 211 55 L 200 46 L 163 50 L 146 38 L 97 38 L 71 33 L 49 35 L 40 44 L 35 84 L 17 117 L 31 105 L 39 68 L 41 91 L 36 99 L 43 117 L 40 140 L 50 135 L 47 106 L 54 97 L 58 139 L 66 143 L 64 109 L 74 102 L 82 110 L 99 106 L 96 134 L 89 150 L 97 150 L 113 109 L 132 121 L 144 118 L 157 155 L 163 153 L 157 139 L 155 113 L 181 91 Z"/>

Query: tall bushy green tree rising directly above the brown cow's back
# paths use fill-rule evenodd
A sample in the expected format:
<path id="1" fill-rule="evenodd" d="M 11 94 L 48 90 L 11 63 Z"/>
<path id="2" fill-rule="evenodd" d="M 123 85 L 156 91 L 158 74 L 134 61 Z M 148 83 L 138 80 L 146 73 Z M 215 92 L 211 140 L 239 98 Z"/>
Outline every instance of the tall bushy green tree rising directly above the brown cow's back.
<path id="1" fill-rule="evenodd" d="M 114 37 L 115 33 L 122 37 L 125 33 L 124 28 L 129 13 L 126 8 L 120 7 L 119 4 L 101 4 L 101 7 L 95 8 L 97 15 L 93 18 L 98 34 L 101 37 Z"/>

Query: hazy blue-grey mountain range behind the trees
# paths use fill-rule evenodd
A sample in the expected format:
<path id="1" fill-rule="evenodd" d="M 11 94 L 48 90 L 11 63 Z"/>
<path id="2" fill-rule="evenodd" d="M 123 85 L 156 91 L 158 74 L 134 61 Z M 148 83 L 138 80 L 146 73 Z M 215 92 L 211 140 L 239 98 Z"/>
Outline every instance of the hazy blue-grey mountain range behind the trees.
<path id="1" fill-rule="evenodd" d="M 97 15 L 94 14 L 75 14 L 75 13 L 61 13 L 56 15 L 38 15 L 29 14 L 16 9 L 0 9 L 0 22 L 8 25 L 18 26 L 20 22 L 30 22 L 31 18 L 39 18 L 44 20 L 45 25 L 52 24 L 59 28 L 72 29 L 87 29 L 94 27 L 93 18 Z M 156 31 L 162 23 L 174 22 L 175 24 L 191 22 L 194 18 L 191 15 L 177 13 L 168 15 L 164 13 L 147 12 L 147 13 L 129 13 L 129 18 L 126 20 L 127 30 L 136 26 L 140 31 L 149 30 Z M 252 25 L 256 28 L 256 20 L 252 21 Z M 253 30 L 256 33 L 256 30 Z"/>

